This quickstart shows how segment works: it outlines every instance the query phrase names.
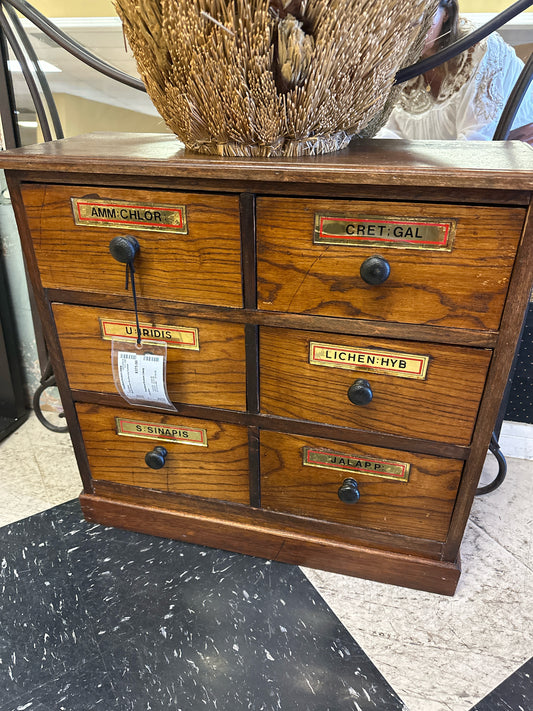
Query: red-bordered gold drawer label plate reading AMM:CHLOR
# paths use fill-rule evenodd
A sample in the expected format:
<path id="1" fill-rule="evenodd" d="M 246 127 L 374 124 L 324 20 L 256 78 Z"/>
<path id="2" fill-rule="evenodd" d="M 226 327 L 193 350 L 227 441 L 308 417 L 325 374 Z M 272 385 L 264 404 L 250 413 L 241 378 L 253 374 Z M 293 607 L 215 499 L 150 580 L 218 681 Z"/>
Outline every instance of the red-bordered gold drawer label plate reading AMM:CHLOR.
<path id="1" fill-rule="evenodd" d="M 150 205 L 98 198 L 71 198 L 71 202 L 76 225 L 188 233 L 184 205 Z"/>

